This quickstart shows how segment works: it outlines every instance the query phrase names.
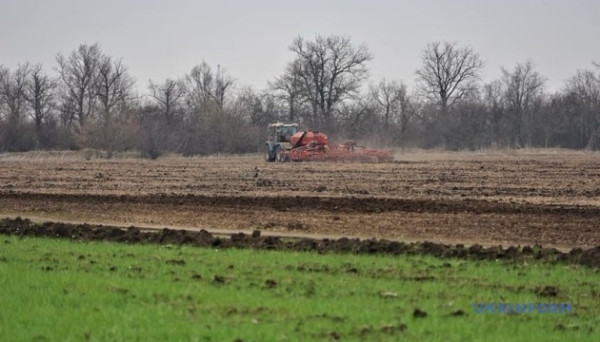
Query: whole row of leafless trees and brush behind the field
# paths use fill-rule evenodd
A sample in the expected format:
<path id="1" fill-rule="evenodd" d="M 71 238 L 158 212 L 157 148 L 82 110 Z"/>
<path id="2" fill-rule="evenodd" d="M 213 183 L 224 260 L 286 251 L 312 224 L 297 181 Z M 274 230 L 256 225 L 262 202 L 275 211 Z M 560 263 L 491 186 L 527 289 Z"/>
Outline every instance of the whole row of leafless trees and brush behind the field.
<path id="1" fill-rule="evenodd" d="M 485 82 L 473 49 L 433 42 L 409 88 L 401 79 L 373 82 L 372 53 L 347 36 L 297 37 L 288 48 L 293 59 L 261 90 L 203 61 L 139 94 L 122 59 L 97 43 L 58 54 L 51 69 L 0 65 L 0 152 L 257 152 L 277 121 L 385 147 L 600 147 L 598 64 L 549 93 L 531 61 Z"/>

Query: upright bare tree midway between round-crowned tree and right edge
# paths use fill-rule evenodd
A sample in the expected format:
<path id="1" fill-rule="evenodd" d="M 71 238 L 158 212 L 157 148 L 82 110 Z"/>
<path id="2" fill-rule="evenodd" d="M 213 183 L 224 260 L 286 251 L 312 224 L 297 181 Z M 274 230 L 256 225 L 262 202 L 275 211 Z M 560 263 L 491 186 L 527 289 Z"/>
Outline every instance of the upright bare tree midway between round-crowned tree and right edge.
<path id="1" fill-rule="evenodd" d="M 523 125 L 532 115 L 533 106 L 544 90 L 546 79 L 534 70 L 533 63 L 518 63 L 512 71 L 502 68 L 505 99 L 512 114 L 512 140 L 520 146 L 523 140 Z"/>

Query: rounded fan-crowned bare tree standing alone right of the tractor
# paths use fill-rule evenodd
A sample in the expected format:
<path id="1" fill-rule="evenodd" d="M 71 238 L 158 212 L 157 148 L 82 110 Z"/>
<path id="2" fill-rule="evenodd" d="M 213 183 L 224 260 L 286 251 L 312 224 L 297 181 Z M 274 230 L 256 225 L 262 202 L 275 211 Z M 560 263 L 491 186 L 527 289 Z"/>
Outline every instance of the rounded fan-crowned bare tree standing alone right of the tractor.
<path id="1" fill-rule="evenodd" d="M 472 49 L 449 42 L 428 44 L 421 59 L 423 66 L 416 72 L 418 87 L 440 105 L 444 116 L 449 107 L 474 89 L 484 65 Z"/>

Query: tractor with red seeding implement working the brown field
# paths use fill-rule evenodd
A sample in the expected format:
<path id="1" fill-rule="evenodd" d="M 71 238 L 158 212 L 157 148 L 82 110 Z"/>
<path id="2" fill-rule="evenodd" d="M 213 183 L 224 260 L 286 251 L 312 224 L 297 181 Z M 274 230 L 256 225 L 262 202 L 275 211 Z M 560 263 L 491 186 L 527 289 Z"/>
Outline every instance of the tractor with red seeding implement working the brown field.
<path id="1" fill-rule="evenodd" d="M 394 160 L 394 156 L 388 151 L 365 148 L 352 141 L 346 141 L 340 145 L 329 145 L 326 134 L 317 131 L 299 131 L 298 124 L 270 124 L 266 145 L 265 160 L 267 162 L 383 163 Z"/>

